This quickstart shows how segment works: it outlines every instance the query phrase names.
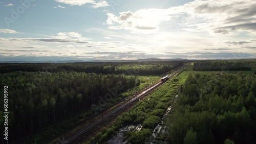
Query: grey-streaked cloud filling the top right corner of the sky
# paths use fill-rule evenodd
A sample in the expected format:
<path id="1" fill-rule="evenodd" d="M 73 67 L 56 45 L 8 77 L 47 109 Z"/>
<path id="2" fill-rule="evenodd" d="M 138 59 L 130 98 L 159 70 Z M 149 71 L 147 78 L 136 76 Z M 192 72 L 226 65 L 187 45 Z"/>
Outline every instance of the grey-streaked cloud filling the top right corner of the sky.
<path id="1" fill-rule="evenodd" d="M 214 33 L 226 35 L 247 31 L 253 32 L 256 30 L 256 2 L 253 0 L 240 1 L 194 1 L 183 6 L 183 8 L 190 8 L 195 17 L 202 17 L 204 20 L 203 29 L 207 31 L 214 31 Z M 234 9 L 236 8 L 236 9 Z M 192 18 L 193 18 L 192 17 Z"/>

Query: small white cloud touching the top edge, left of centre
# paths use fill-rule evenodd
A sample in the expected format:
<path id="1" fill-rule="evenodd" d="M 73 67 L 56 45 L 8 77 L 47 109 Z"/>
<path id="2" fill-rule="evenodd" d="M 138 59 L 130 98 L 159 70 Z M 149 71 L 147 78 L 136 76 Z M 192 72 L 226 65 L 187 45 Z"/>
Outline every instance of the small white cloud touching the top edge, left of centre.
<path id="1" fill-rule="evenodd" d="M 90 4 L 92 8 L 99 8 L 99 7 L 108 7 L 110 6 L 106 1 L 95 1 L 95 0 L 55 0 L 58 3 L 68 4 L 68 5 L 86 5 Z"/>

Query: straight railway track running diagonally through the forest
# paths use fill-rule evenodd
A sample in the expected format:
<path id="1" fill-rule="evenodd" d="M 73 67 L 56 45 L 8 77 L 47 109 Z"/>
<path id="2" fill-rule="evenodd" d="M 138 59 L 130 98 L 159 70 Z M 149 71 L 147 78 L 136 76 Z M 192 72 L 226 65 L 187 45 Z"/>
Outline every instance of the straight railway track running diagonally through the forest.
<path id="1" fill-rule="evenodd" d="M 61 144 L 66 144 L 66 143 L 79 143 L 80 141 L 77 141 L 79 139 L 80 136 L 82 135 L 86 135 L 86 133 L 88 133 L 90 130 L 92 130 L 93 128 L 97 127 L 99 124 L 102 123 L 103 119 L 108 119 L 110 117 L 112 117 L 113 115 L 115 115 L 116 113 L 118 113 L 119 111 L 121 111 L 122 109 L 126 108 L 127 106 L 129 106 L 131 103 L 135 102 L 136 100 L 142 98 L 143 96 L 145 96 L 146 94 L 150 93 L 151 91 L 153 91 L 154 89 L 158 88 L 160 85 L 162 85 L 164 82 L 166 82 L 168 79 L 173 78 L 174 76 L 176 76 L 177 74 L 180 73 L 180 71 L 186 67 L 182 66 L 181 68 L 178 68 L 175 73 L 173 73 L 172 75 L 168 76 L 167 79 L 165 79 L 164 81 L 160 81 L 155 85 L 152 85 L 151 87 L 148 87 L 146 90 L 144 90 L 143 92 L 139 92 L 139 94 L 137 94 L 134 98 L 129 99 L 127 102 L 125 102 L 124 104 L 118 106 L 117 108 L 113 109 L 112 111 L 106 113 L 102 118 L 98 118 L 96 121 L 94 121 L 93 123 L 91 123 L 90 125 L 88 125 L 87 127 L 79 130 L 78 132 L 74 133 L 73 135 L 71 135 L 70 137 L 68 137 L 67 139 L 65 139 L 64 141 L 60 142 Z"/>

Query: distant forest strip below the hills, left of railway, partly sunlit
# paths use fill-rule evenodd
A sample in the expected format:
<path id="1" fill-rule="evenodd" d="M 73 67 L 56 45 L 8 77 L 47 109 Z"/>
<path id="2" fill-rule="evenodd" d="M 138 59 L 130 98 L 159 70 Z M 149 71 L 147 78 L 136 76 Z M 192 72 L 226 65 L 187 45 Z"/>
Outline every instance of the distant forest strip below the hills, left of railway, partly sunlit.
<path id="1" fill-rule="evenodd" d="M 162 75 L 184 61 L 141 61 L 141 62 L 101 62 L 101 63 L 3 63 L 0 73 L 13 71 L 77 71 L 96 74 L 126 74 L 126 75 Z"/>

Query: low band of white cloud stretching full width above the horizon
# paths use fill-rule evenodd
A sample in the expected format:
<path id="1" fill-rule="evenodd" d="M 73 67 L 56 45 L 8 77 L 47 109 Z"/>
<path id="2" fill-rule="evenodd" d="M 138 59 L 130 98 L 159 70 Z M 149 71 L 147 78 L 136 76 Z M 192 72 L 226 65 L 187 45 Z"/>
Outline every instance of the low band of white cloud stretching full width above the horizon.
<path id="1" fill-rule="evenodd" d="M 51 38 L 0 38 L 0 53 L 3 56 L 54 56 L 81 57 L 101 60 L 140 59 L 140 58 L 233 58 L 241 54 L 253 57 L 256 53 L 255 39 L 202 40 L 203 36 L 192 34 L 159 32 L 142 36 L 132 43 L 124 41 L 83 40 L 81 34 L 58 33 Z M 166 40 L 168 39 L 168 40 Z M 182 39 L 182 40 L 181 40 Z M 143 43 L 142 43 L 143 42 Z M 196 43 L 196 45 L 195 45 Z M 231 44 L 231 46 L 227 46 Z M 6 49 L 8 47 L 8 50 Z M 244 48 L 243 48 L 244 47 Z M 154 51 L 152 51 L 154 49 Z M 231 57 L 232 56 L 232 57 Z"/>

